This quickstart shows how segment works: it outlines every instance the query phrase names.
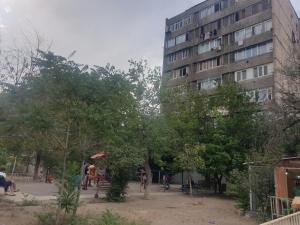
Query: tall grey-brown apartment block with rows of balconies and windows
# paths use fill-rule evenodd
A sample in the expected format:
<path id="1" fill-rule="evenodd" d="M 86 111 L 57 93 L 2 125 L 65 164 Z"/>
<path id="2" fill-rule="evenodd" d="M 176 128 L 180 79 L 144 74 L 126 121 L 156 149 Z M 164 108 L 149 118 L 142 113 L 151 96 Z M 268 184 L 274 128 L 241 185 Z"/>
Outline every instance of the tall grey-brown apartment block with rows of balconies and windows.
<path id="1" fill-rule="evenodd" d="M 299 24 L 289 0 L 206 0 L 166 20 L 165 85 L 236 81 L 259 102 L 277 100 Z"/>

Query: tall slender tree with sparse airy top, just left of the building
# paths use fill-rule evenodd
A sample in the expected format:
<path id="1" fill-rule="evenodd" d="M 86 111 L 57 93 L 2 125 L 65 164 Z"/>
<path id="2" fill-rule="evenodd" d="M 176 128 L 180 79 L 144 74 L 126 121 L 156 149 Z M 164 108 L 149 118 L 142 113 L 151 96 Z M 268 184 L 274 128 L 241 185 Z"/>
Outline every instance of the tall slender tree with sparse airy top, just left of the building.
<path id="1" fill-rule="evenodd" d="M 133 96 L 137 104 L 137 147 L 143 154 L 143 166 L 147 174 L 144 197 L 149 198 L 152 181 L 150 162 L 161 162 L 168 151 L 168 129 L 165 117 L 160 114 L 161 72 L 150 68 L 146 61 L 130 61 L 128 80 L 133 85 Z"/>

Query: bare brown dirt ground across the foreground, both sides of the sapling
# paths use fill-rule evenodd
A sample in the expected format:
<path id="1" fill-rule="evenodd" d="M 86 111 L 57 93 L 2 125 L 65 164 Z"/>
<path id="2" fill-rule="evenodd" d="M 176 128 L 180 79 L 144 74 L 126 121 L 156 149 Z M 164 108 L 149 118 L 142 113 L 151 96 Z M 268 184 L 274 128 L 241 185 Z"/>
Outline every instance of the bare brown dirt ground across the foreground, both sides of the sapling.
<path id="1" fill-rule="evenodd" d="M 131 196 L 126 203 L 85 203 L 79 213 L 97 216 L 105 210 L 151 225 L 255 225 L 238 215 L 234 202 L 217 197 L 189 197 L 181 193 L 154 193 L 150 200 Z M 0 202 L 0 225 L 34 225 L 34 214 L 46 206 L 11 207 Z"/>

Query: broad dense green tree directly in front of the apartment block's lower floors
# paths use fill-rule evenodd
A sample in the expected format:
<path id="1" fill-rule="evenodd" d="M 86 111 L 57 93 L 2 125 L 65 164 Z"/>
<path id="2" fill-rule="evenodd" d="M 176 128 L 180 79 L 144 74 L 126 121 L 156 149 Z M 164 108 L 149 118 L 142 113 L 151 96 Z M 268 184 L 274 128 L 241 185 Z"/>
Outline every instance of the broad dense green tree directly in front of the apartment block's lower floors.
<path id="1" fill-rule="evenodd" d="M 175 131 L 173 148 L 180 155 L 185 146 L 203 146 L 198 170 L 213 175 L 215 191 L 222 192 L 222 179 L 234 169 L 243 170 L 247 155 L 256 148 L 257 105 L 237 84 L 222 85 L 213 93 L 186 87 L 184 94 L 169 94 L 164 109 Z"/>

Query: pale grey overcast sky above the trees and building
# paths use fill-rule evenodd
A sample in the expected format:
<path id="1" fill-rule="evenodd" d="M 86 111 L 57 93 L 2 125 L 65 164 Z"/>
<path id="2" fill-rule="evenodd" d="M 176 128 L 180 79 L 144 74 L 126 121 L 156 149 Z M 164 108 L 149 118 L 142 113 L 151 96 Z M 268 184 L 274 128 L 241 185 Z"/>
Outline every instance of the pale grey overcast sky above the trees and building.
<path id="1" fill-rule="evenodd" d="M 280 1 L 280 0 L 278 0 Z M 0 47 L 36 30 L 51 50 L 80 63 L 121 69 L 147 59 L 161 66 L 165 19 L 202 0 L 0 0 Z M 300 15 L 300 1 L 292 0 Z"/>

